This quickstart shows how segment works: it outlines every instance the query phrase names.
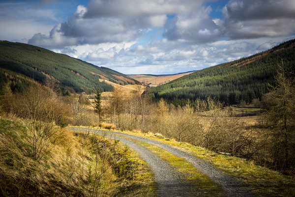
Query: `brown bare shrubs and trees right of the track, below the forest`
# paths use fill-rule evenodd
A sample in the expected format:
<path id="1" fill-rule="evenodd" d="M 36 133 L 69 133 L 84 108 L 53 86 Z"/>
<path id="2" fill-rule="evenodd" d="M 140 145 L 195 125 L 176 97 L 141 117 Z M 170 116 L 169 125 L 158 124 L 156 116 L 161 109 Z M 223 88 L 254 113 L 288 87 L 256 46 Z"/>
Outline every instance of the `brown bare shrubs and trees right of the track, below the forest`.
<path id="1" fill-rule="evenodd" d="M 188 101 L 184 107 L 168 105 L 161 99 L 158 103 L 147 102 L 145 111 L 141 101 L 144 94 L 139 97 L 135 93 L 134 97 L 117 90 L 113 97 L 118 104 L 114 98 L 109 100 L 109 106 L 113 107 L 108 109 L 109 114 L 112 110 L 114 113 L 107 120 L 119 130 L 160 133 L 179 142 L 290 173 L 295 170 L 295 86 L 283 65 L 278 65 L 278 69 L 277 86 L 264 96 L 263 102 L 254 99 L 256 108 L 252 111 L 223 107 L 223 103 L 212 98 Z M 264 109 L 257 108 L 263 103 Z"/>

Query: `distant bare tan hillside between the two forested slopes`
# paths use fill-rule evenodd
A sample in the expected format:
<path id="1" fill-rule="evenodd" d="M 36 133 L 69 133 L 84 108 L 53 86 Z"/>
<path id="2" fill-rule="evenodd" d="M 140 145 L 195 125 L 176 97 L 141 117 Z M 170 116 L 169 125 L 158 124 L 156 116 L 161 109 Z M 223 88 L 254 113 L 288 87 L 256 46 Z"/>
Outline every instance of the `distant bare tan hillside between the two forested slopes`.
<path id="1" fill-rule="evenodd" d="M 194 71 L 178 73 L 178 74 L 164 74 L 164 75 L 133 74 L 128 76 L 137 81 L 140 81 L 143 85 L 149 85 L 150 87 L 155 87 L 155 86 L 168 83 L 172 80 L 178 79 L 179 77 L 188 75 L 193 72 Z"/>

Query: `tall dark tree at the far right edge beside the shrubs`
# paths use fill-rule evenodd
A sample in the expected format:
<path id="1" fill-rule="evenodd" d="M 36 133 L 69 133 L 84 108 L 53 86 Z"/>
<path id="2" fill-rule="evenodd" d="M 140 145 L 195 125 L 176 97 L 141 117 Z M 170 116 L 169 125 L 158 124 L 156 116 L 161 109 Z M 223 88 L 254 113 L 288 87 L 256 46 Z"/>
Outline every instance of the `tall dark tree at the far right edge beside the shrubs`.
<path id="1" fill-rule="evenodd" d="M 275 76 L 276 86 L 272 87 L 266 103 L 268 134 L 277 169 L 288 169 L 295 164 L 295 79 L 292 76 L 281 62 Z"/>

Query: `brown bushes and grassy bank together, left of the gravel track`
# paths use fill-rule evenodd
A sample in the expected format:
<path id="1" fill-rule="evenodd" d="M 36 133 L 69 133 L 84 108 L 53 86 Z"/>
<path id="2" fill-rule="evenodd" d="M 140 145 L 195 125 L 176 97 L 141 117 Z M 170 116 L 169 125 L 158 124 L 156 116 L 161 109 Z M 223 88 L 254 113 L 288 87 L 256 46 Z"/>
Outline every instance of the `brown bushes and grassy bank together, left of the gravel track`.
<path id="1" fill-rule="evenodd" d="M 98 125 L 86 95 L 60 97 L 54 83 L 46 85 L 23 95 L 9 86 L 1 92 L 0 196 L 153 196 L 152 176 L 134 153 L 104 136 L 64 129 Z"/>

